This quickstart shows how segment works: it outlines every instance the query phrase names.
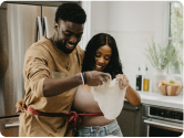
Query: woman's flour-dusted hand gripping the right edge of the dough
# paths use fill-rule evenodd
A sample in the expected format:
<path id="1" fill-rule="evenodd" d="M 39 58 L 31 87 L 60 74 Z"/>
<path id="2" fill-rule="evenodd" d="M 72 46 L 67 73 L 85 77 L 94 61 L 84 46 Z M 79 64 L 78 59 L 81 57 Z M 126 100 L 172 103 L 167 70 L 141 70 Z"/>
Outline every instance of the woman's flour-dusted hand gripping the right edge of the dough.
<path id="1" fill-rule="evenodd" d="M 123 89 L 124 87 L 129 87 L 129 79 L 124 74 L 117 74 L 115 78 L 121 89 Z"/>

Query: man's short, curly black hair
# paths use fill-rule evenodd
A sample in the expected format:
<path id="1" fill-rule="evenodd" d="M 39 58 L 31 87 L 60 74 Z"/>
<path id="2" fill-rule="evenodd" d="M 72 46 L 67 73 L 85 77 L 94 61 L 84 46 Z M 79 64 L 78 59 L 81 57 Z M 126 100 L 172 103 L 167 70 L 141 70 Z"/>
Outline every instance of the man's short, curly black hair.
<path id="1" fill-rule="evenodd" d="M 63 3 L 55 13 L 55 22 L 59 19 L 63 21 L 70 21 L 78 24 L 83 24 L 86 20 L 85 11 L 76 3 Z"/>

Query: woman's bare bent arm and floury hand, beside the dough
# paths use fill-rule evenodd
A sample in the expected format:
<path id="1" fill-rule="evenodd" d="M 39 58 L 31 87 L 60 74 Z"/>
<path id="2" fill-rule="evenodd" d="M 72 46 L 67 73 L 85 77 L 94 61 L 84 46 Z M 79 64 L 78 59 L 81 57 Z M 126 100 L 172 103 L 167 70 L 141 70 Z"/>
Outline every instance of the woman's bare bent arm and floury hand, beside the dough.
<path id="1" fill-rule="evenodd" d="M 119 82 L 119 86 L 121 89 L 126 87 L 125 98 L 134 106 L 139 106 L 141 104 L 141 97 L 139 93 L 132 88 L 129 84 L 129 79 L 124 74 L 116 75 L 116 81 Z"/>

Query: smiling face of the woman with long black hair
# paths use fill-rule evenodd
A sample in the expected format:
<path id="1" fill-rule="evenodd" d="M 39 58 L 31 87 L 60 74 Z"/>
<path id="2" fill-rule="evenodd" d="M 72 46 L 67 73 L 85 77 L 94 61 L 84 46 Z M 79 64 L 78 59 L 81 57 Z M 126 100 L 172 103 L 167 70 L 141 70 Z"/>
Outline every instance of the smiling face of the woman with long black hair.
<path id="1" fill-rule="evenodd" d="M 95 66 L 93 71 L 102 72 L 110 63 L 111 55 L 112 55 L 112 50 L 108 44 L 99 47 L 94 56 Z"/>

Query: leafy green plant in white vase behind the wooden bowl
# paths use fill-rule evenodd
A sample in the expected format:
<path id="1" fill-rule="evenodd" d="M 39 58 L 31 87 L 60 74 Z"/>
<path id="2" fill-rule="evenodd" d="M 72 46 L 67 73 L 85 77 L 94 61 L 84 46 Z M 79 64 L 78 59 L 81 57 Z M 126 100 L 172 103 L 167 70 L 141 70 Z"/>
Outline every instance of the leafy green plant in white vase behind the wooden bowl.
<path id="1" fill-rule="evenodd" d="M 166 45 L 166 47 L 157 46 L 159 50 L 155 46 L 155 43 L 152 41 L 151 44 L 149 44 L 149 47 L 145 49 L 146 53 L 145 56 L 151 62 L 152 66 L 155 68 L 154 73 L 154 92 L 159 92 L 156 88 L 156 84 L 160 82 L 160 79 L 166 78 L 165 68 L 167 67 L 170 62 L 173 62 L 176 60 L 176 51 L 175 47 L 172 45 Z"/>

